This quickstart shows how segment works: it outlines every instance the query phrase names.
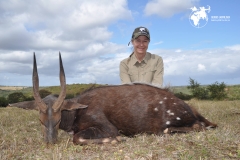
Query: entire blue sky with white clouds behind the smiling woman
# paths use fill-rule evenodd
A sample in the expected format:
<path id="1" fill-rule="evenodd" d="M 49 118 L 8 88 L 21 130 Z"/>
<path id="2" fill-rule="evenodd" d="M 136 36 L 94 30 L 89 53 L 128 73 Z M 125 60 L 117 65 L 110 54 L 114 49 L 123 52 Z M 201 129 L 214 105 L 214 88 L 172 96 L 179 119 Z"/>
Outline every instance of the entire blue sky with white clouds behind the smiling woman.
<path id="1" fill-rule="evenodd" d="M 190 23 L 194 6 L 210 6 L 202 28 Z M 188 85 L 190 77 L 203 85 L 240 84 L 239 6 L 239 0 L 0 0 L 0 85 L 31 86 L 33 52 L 40 85 L 59 85 L 59 51 L 68 84 L 120 84 L 119 63 L 139 26 L 150 30 L 148 51 L 163 58 L 164 85 Z M 228 18 L 213 21 L 220 16 Z"/>

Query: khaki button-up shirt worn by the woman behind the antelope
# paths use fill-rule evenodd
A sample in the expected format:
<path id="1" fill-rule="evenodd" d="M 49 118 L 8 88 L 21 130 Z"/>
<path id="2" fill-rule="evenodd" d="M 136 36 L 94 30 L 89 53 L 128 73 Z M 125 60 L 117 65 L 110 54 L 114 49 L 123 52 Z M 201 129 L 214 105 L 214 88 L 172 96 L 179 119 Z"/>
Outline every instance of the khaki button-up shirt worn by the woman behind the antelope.
<path id="1" fill-rule="evenodd" d="M 143 61 L 138 62 L 135 54 L 120 62 L 121 83 L 143 82 L 157 86 L 163 83 L 162 57 L 147 52 Z"/>

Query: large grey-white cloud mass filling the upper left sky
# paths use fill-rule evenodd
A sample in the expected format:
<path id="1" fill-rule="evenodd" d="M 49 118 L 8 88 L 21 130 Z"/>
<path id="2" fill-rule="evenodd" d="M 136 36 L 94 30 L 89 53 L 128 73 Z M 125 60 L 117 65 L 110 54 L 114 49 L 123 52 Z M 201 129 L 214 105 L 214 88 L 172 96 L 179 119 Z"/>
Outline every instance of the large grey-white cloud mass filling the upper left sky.
<path id="1" fill-rule="evenodd" d="M 110 24 L 132 18 L 126 0 L 1 1 L 0 10 L 0 47 L 8 50 L 78 50 L 109 40 Z"/>

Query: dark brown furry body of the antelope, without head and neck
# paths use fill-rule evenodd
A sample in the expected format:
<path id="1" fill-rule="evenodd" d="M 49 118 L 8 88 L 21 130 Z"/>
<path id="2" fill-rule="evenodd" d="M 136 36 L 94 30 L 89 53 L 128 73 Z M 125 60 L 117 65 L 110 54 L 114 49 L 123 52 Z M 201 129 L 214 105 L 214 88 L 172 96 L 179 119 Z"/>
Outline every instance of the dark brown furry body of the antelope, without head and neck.
<path id="1" fill-rule="evenodd" d="M 88 107 L 77 111 L 72 128 L 75 144 L 82 144 L 79 139 L 159 135 L 166 128 L 173 133 L 217 126 L 171 92 L 146 84 L 94 88 L 77 97 L 77 102 Z"/>

